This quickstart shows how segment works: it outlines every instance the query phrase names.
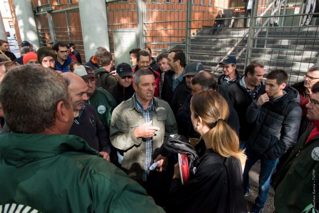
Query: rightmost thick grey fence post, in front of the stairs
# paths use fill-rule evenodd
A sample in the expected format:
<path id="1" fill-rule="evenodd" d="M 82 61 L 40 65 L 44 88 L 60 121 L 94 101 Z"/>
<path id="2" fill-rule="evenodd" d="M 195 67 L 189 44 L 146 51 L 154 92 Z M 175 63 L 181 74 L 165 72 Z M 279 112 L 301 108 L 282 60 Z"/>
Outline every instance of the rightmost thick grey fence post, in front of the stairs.
<path id="1" fill-rule="evenodd" d="M 250 22 L 249 22 L 249 33 L 248 33 L 248 39 L 247 39 L 247 48 L 246 48 L 246 56 L 245 56 L 245 65 L 244 69 L 246 66 L 248 66 L 251 63 L 251 47 L 253 43 L 253 37 L 254 37 L 254 32 L 255 32 L 255 16 L 258 14 L 258 0 L 253 0 L 253 6 L 252 6 L 252 11 L 250 15 Z"/>

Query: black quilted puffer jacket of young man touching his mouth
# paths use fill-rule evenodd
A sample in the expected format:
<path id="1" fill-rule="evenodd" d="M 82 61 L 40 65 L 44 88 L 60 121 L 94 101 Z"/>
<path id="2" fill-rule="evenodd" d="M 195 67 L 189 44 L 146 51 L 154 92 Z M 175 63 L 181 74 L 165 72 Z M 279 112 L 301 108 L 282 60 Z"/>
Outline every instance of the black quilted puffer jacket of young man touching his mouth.
<path id="1" fill-rule="evenodd" d="M 254 124 L 248 140 L 250 150 L 277 159 L 297 142 L 301 121 L 299 93 L 287 86 L 282 97 L 262 106 L 253 101 L 246 113 L 247 122 Z"/>

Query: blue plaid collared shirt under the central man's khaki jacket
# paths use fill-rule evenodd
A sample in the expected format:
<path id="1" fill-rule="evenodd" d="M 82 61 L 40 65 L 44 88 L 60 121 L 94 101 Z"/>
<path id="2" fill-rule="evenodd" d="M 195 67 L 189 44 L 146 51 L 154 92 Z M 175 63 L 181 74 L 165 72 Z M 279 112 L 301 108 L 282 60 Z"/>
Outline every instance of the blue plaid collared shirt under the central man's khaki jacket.
<path id="1" fill-rule="evenodd" d="M 152 120 L 152 109 L 153 109 L 153 99 L 151 101 L 150 106 L 147 107 L 146 110 L 144 110 L 142 103 L 137 98 L 136 94 L 134 95 L 136 99 L 136 107 L 139 111 L 143 113 L 143 117 L 145 119 L 145 122 L 150 122 Z M 152 154 L 153 154 L 153 138 L 143 138 L 143 142 L 145 142 L 145 163 L 144 163 L 144 174 L 143 174 L 143 181 L 147 180 L 148 175 L 148 168 L 152 164 Z"/>

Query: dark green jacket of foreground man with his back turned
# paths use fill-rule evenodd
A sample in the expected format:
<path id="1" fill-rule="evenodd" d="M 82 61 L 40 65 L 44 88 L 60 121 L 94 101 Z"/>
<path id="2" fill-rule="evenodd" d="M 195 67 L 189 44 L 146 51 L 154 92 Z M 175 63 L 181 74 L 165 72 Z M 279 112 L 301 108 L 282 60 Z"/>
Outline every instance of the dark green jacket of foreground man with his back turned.
<path id="1" fill-rule="evenodd" d="M 123 171 L 73 135 L 0 135 L 0 205 L 43 213 L 163 212 Z M 22 211 L 21 211 L 22 212 Z"/>

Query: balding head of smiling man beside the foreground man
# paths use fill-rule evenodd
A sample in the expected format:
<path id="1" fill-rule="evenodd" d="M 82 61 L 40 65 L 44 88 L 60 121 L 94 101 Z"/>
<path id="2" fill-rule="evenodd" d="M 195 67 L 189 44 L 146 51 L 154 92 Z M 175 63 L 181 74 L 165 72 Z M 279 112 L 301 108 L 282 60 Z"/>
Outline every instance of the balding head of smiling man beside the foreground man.
<path id="1" fill-rule="evenodd" d="M 72 98 L 73 114 L 78 116 L 77 113 L 81 110 L 85 101 L 89 100 L 86 94 L 88 86 L 80 76 L 72 72 L 65 72 L 61 75 Z"/>

